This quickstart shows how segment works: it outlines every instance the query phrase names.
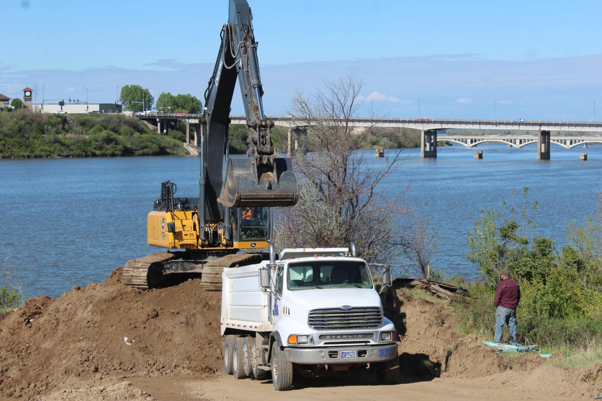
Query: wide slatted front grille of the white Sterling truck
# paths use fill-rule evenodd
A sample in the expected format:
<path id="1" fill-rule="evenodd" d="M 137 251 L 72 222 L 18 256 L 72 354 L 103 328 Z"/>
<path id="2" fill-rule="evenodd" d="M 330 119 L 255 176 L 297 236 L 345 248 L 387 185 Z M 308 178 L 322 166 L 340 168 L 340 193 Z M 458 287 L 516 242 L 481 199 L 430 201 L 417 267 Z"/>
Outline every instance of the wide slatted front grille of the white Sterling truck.
<path id="1" fill-rule="evenodd" d="M 315 330 L 376 329 L 382 323 L 380 308 L 313 309 L 308 325 Z"/>

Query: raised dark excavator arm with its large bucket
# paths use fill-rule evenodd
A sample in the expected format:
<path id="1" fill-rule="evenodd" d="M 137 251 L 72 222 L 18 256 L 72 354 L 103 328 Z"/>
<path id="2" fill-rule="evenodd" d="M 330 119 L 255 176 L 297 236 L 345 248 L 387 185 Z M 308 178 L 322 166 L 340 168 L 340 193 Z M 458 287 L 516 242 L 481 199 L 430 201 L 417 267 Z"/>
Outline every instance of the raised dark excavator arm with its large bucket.
<path id="1" fill-rule="evenodd" d="M 216 65 L 205 91 L 199 196 L 212 219 L 222 214 L 218 201 L 226 207 L 293 206 L 297 180 L 290 159 L 278 158 L 270 138 L 274 123 L 263 111 L 257 42 L 246 0 L 230 0 L 228 23 L 222 26 L 220 37 Z M 246 158 L 228 155 L 229 114 L 237 79 L 249 129 Z M 204 216 L 201 218 L 203 223 Z"/>

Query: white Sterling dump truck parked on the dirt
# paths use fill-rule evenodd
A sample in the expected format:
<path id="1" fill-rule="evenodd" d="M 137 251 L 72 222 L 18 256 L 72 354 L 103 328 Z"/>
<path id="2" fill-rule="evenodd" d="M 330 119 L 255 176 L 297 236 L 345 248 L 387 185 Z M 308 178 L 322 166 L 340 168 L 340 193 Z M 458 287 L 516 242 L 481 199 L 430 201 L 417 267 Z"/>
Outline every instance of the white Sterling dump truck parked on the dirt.
<path id="1" fill-rule="evenodd" d="M 270 260 L 223 271 L 224 369 L 237 379 L 272 374 L 290 390 L 293 372 L 362 369 L 397 382 L 397 333 L 383 316 L 368 264 L 350 248 L 284 249 Z M 380 278 L 390 285 L 383 268 Z"/>

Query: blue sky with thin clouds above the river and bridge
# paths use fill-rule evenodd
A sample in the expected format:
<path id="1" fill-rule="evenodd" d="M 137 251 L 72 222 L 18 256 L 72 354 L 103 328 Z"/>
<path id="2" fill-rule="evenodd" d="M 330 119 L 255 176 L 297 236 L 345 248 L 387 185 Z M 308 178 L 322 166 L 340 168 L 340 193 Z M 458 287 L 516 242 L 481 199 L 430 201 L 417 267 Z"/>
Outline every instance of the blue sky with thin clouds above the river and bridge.
<path id="1" fill-rule="evenodd" d="M 268 116 L 353 76 L 365 115 L 587 121 L 597 104 L 602 120 L 600 1 L 249 3 Z M 227 0 L 0 0 L 0 93 L 114 102 L 138 84 L 202 99 L 227 18 Z"/>

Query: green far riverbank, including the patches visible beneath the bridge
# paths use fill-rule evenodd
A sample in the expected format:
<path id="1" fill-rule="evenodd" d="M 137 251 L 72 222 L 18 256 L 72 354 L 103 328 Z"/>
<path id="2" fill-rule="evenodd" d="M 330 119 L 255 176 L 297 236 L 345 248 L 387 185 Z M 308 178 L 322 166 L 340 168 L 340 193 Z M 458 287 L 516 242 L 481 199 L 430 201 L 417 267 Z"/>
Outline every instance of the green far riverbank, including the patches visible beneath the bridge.
<path id="1" fill-rule="evenodd" d="M 231 124 L 230 153 L 246 153 L 248 135 L 244 124 Z M 287 128 L 273 127 L 270 135 L 278 152 L 287 152 Z M 121 114 L 0 112 L 0 159 L 188 155 L 184 141 L 183 123 L 160 135 L 140 120 Z M 419 133 L 407 129 L 380 129 L 365 141 L 367 148 L 419 145 Z"/>

